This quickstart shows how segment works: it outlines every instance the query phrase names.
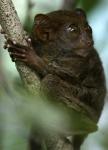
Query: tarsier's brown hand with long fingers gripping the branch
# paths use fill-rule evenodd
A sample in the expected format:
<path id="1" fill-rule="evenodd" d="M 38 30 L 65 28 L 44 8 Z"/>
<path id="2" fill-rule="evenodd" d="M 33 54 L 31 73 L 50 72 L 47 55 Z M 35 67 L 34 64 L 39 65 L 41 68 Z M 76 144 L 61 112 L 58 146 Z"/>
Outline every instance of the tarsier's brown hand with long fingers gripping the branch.
<path id="1" fill-rule="evenodd" d="M 4 48 L 8 48 L 8 52 L 13 62 L 24 62 L 26 65 L 35 69 L 43 68 L 43 60 L 36 54 L 31 45 L 30 39 L 28 39 L 28 42 L 29 46 L 24 46 L 8 39 L 5 43 Z"/>

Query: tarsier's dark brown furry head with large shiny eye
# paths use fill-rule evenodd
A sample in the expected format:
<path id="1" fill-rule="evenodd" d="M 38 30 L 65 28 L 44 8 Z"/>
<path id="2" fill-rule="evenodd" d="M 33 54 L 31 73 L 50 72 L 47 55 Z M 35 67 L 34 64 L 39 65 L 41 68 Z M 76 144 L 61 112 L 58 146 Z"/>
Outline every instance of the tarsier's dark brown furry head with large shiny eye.
<path id="1" fill-rule="evenodd" d="M 61 48 L 80 49 L 93 46 L 92 29 L 82 9 L 55 11 L 35 16 L 34 40 L 48 44 L 56 42 Z"/>

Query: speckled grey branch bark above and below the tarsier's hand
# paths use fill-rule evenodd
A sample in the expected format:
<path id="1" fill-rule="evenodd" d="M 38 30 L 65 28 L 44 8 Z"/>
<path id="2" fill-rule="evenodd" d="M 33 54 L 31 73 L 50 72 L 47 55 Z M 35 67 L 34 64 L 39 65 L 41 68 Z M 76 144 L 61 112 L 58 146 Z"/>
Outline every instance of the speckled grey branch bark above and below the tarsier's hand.
<path id="1" fill-rule="evenodd" d="M 22 28 L 17 12 L 11 0 L 0 0 L 0 24 L 8 35 L 8 38 L 20 44 L 27 45 L 25 31 Z M 16 63 L 17 70 L 25 87 L 33 94 L 37 94 L 40 88 L 40 81 L 30 68 L 23 63 Z"/>

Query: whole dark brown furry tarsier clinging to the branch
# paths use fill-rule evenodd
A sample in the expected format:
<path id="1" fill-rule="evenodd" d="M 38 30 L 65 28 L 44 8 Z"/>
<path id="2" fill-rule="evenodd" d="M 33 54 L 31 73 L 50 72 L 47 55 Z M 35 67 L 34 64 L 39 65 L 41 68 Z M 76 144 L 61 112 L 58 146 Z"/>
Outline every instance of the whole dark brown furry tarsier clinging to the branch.
<path id="1" fill-rule="evenodd" d="M 24 62 L 36 71 L 41 90 L 46 89 L 50 97 L 66 107 L 83 109 L 98 121 L 106 93 L 105 78 L 94 49 L 92 29 L 82 9 L 36 15 L 31 46 L 12 41 L 8 44 L 12 61 Z M 74 150 L 80 149 L 82 141 L 74 137 Z"/>

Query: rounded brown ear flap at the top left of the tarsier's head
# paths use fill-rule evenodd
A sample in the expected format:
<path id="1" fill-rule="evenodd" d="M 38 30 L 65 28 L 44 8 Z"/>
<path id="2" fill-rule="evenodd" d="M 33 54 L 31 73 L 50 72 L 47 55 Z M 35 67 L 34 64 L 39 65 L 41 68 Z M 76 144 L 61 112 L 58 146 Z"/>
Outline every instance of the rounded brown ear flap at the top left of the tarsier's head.
<path id="1" fill-rule="evenodd" d="M 36 24 L 39 24 L 40 22 L 48 21 L 48 20 L 49 20 L 49 17 L 44 14 L 38 14 L 34 17 L 34 23 Z"/>

